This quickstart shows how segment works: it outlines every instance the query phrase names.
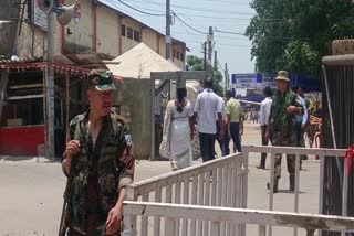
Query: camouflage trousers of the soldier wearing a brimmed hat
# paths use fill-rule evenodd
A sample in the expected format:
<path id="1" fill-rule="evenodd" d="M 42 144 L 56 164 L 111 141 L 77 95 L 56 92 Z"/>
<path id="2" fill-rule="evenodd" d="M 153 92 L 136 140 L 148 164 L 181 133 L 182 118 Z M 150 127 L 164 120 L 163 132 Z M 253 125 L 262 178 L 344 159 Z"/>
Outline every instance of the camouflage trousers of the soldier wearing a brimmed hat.
<path id="1" fill-rule="evenodd" d="M 285 136 L 282 132 L 273 133 L 272 146 L 275 147 L 295 147 L 296 144 L 296 133 L 292 132 Z M 275 154 L 275 164 L 274 164 L 274 178 L 280 179 L 281 176 L 281 159 L 282 154 Z M 287 154 L 287 167 L 289 175 L 295 175 L 295 155 Z"/>

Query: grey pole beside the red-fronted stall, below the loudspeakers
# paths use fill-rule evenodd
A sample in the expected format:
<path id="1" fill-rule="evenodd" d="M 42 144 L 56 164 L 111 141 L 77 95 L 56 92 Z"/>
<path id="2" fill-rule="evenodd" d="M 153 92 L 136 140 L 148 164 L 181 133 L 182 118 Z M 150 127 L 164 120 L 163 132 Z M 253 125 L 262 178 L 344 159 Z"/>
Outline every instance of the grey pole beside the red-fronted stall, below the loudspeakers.
<path id="1" fill-rule="evenodd" d="M 46 114 L 46 155 L 54 158 L 54 69 L 52 67 L 54 56 L 54 33 L 55 22 L 54 12 L 48 13 L 48 33 L 46 33 L 46 61 L 48 73 L 44 79 L 45 84 L 45 114 Z"/>

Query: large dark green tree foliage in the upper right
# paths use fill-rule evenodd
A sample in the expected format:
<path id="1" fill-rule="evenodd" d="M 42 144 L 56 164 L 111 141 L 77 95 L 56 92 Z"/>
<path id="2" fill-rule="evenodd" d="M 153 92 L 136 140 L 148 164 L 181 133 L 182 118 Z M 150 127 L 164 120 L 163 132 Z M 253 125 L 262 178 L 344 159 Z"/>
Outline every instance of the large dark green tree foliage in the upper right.
<path id="1" fill-rule="evenodd" d="M 279 69 L 317 76 L 330 42 L 354 35 L 351 0 L 253 0 L 246 35 L 260 73 Z"/>

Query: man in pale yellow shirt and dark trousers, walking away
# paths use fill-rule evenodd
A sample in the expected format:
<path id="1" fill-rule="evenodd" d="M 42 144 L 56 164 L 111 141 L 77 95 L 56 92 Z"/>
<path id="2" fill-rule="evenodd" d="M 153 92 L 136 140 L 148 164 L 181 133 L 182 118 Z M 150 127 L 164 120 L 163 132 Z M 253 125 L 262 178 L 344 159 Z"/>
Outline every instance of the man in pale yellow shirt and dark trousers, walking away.
<path id="1" fill-rule="evenodd" d="M 232 139 L 237 151 L 242 152 L 241 140 L 240 140 L 240 124 L 242 122 L 242 108 L 239 100 L 232 97 L 232 92 L 226 93 L 226 114 L 227 114 L 227 132 L 229 140 Z M 230 154 L 229 142 L 225 143 L 226 155 Z"/>

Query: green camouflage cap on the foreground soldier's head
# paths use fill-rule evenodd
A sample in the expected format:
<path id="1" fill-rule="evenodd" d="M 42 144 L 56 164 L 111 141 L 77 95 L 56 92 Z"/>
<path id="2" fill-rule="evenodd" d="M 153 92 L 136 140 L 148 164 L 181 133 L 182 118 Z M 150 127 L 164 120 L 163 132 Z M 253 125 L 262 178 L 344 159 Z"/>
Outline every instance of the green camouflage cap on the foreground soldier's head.
<path id="1" fill-rule="evenodd" d="M 105 69 L 92 71 L 88 75 L 88 86 L 93 86 L 97 90 L 116 90 L 112 72 Z"/>

